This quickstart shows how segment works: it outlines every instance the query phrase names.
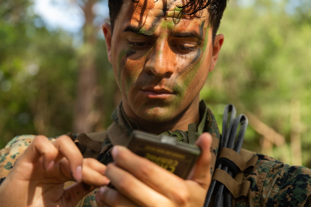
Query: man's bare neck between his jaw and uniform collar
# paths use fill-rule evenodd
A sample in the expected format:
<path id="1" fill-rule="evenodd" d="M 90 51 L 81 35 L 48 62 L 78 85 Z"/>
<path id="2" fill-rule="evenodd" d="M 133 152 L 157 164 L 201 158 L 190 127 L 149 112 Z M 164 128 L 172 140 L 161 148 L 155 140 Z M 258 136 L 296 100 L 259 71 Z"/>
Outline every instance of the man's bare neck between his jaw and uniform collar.
<path id="1" fill-rule="evenodd" d="M 196 122 L 199 124 L 200 121 L 200 115 L 199 115 L 199 96 L 197 96 L 190 105 L 183 110 L 181 114 L 179 114 L 177 117 L 175 117 L 172 120 L 169 120 L 167 122 L 162 123 L 154 123 L 150 121 L 146 121 L 144 119 L 140 119 L 137 115 L 132 115 L 131 113 L 128 113 L 127 110 L 124 110 L 125 113 L 129 116 L 131 114 L 132 116 L 129 116 L 133 121 L 135 121 L 140 128 L 142 128 L 144 131 L 154 134 L 160 134 L 167 130 L 174 131 L 176 129 L 187 131 L 188 130 L 188 124 Z M 123 106 L 124 107 L 124 106 Z M 127 107 L 125 107 L 127 108 Z"/>

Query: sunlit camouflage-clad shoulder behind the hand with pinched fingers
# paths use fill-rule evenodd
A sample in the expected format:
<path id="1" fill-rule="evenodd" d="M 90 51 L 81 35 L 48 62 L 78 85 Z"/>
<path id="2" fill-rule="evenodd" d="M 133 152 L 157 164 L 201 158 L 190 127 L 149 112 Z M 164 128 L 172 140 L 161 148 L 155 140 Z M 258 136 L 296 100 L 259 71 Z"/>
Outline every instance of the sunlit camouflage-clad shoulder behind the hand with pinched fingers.
<path id="1" fill-rule="evenodd" d="M 0 184 L 35 137 L 35 135 L 16 136 L 0 150 Z M 49 139 L 52 141 L 54 138 Z"/>

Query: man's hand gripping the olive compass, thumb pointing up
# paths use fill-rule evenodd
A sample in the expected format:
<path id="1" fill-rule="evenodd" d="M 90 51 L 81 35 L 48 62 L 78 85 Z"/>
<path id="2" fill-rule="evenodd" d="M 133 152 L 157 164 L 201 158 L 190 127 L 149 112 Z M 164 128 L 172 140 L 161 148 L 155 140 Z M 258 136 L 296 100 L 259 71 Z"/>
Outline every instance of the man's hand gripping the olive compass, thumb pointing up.
<path id="1" fill-rule="evenodd" d="M 107 166 L 105 175 L 117 190 L 101 187 L 96 194 L 98 206 L 203 206 L 211 183 L 211 140 L 208 133 L 197 140 L 202 153 L 187 180 L 115 146 L 115 162 Z"/>

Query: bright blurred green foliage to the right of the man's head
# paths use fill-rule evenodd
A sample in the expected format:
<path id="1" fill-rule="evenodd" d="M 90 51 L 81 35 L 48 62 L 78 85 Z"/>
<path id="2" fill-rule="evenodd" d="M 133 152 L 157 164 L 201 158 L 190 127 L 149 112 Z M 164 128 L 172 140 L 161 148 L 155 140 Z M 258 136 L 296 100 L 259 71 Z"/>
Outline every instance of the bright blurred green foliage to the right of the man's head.
<path id="1" fill-rule="evenodd" d="M 240 7 L 230 2 L 220 26 L 225 43 L 201 96 L 212 109 L 234 103 L 238 113 L 248 110 L 288 143 L 291 131 L 298 130 L 304 150 L 311 136 L 311 15 L 300 13 L 309 2 L 300 3 L 291 7 L 290 1 L 255 1 L 252 7 Z M 294 101 L 300 104 L 295 126 L 290 123 Z M 261 143 L 262 136 L 250 126 L 244 147 L 261 151 Z M 270 153 L 295 164 L 290 152 L 281 153 L 284 149 L 275 147 Z M 303 156 L 307 163 L 310 157 Z"/>

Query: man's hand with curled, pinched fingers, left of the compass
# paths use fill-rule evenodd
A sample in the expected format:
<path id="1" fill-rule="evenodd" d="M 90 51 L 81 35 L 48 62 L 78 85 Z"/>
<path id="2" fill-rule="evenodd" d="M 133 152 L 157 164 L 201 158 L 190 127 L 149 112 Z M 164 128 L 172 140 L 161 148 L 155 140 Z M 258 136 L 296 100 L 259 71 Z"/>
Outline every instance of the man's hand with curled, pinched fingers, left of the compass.
<path id="1" fill-rule="evenodd" d="M 1 206 L 75 206 L 90 189 L 103 186 L 106 166 L 95 159 L 83 159 L 72 140 L 63 135 L 54 142 L 37 136 L 16 161 L 0 186 Z M 63 189 L 64 182 L 77 183 Z M 83 182 L 83 183 L 82 183 Z"/>

